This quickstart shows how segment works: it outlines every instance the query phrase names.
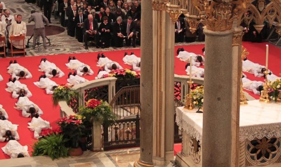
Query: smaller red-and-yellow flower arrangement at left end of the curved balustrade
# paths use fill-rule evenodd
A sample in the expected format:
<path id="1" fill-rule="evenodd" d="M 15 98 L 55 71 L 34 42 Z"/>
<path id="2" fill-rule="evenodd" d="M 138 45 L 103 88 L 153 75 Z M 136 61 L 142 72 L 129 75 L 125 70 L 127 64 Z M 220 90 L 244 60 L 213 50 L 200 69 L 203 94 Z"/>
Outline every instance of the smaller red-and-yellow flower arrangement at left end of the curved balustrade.
<path id="1" fill-rule="evenodd" d="M 77 93 L 68 85 L 59 85 L 54 89 L 52 96 L 53 105 L 57 106 L 59 101 L 66 101 L 67 104 L 70 104 L 71 98 L 75 97 Z"/>

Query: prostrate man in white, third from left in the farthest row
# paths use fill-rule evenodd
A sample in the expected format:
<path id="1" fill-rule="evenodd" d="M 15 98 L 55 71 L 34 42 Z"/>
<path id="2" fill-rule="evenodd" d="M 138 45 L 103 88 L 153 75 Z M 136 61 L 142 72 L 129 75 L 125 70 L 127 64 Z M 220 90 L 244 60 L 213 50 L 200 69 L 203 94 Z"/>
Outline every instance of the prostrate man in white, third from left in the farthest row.
<path id="1" fill-rule="evenodd" d="M 91 70 L 90 66 L 80 62 L 79 60 L 76 60 L 76 58 L 74 56 L 72 57 L 72 60 L 71 60 L 71 56 L 69 56 L 68 62 L 69 63 L 66 63 L 65 65 L 69 69 L 75 70 L 76 74 L 79 76 L 94 74 L 94 71 Z"/>

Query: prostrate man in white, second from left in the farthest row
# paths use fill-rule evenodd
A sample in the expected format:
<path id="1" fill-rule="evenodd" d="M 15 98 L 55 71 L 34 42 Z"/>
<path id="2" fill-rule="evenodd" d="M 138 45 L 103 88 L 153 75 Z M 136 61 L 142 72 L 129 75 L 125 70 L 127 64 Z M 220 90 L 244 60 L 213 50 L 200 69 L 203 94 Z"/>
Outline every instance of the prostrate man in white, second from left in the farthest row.
<path id="1" fill-rule="evenodd" d="M 46 59 L 41 59 L 39 71 L 44 72 L 46 77 L 63 77 L 64 73 L 56 66 L 56 64 L 49 62 Z"/>

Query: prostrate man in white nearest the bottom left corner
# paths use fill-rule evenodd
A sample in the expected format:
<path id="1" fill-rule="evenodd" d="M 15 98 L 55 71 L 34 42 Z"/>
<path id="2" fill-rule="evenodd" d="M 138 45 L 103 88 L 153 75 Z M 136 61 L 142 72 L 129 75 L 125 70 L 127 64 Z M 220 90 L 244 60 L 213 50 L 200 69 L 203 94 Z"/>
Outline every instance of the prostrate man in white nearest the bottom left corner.
<path id="1" fill-rule="evenodd" d="M 22 146 L 16 140 L 10 140 L 5 147 L 2 147 L 2 151 L 9 155 L 11 158 L 18 158 L 19 154 L 22 154 L 24 157 L 30 157 L 27 151 L 27 145 Z M 20 157 L 20 156 L 19 156 Z"/>

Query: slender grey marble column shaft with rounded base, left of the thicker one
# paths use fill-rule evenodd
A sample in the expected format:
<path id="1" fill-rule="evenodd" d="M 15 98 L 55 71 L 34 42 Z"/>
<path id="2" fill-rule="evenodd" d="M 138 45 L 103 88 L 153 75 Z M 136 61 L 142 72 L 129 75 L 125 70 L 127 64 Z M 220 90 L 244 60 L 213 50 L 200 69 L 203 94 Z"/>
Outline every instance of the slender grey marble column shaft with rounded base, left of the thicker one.
<path id="1" fill-rule="evenodd" d="M 141 69 L 140 78 L 140 158 L 134 166 L 152 165 L 152 113 L 153 113 L 153 48 L 152 48 L 152 3 L 142 1 L 141 13 Z"/>

